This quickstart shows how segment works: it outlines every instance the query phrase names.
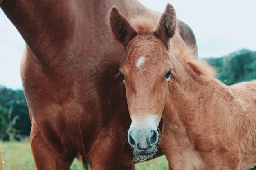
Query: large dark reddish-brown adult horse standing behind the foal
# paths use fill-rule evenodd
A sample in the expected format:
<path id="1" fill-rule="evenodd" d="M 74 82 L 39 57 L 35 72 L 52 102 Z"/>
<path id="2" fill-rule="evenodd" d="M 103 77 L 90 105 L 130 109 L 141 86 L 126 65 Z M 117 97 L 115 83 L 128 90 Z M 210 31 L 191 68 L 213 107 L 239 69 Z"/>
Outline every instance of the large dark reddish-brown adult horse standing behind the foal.
<path id="1" fill-rule="evenodd" d="M 160 14 L 137 0 L 0 0 L 27 46 L 21 77 L 38 170 L 67 170 L 80 153 L 94 170 L 132 163 L 130 117 L 117 76 L 124 50 L 112 40 L 112 6 L 126 17 Z M 195 45 L 189 27 L 182 37 Z M 182 41 L 182 40 L 181 40 Z"/>

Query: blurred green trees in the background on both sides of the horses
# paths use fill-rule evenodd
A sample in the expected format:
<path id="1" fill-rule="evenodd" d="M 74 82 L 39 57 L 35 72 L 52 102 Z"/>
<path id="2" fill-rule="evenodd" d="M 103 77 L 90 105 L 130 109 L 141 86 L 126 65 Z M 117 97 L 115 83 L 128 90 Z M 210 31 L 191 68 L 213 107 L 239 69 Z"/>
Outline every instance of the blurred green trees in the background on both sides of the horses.
<path id="1" fill-rule="evenodd" d="M 218 79 L 227 85 L 256 79 L 256 51 L 243 49 L 207 60 L 218 71 Z M 0 139 L 21 140 L 29 136 L 31 121 L 22 90 L 0 86 Z"/>

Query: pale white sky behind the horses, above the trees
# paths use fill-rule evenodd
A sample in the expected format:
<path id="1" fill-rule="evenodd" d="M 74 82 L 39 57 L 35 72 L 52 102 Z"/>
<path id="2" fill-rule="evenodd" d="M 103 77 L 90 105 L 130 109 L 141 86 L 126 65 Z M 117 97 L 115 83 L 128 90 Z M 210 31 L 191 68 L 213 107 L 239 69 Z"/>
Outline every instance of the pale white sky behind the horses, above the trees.
<path id="1" fill-rule="evenodd" d="M 198 55 L 222 57 L 239 49 L 256 51 L 255 0 L 139 0 L 163 12 L 171 3 L 177 18 L 194 31 Z M 20 62 L 25 42 L 0 9 L 0 85 L 22 89 Z"/>

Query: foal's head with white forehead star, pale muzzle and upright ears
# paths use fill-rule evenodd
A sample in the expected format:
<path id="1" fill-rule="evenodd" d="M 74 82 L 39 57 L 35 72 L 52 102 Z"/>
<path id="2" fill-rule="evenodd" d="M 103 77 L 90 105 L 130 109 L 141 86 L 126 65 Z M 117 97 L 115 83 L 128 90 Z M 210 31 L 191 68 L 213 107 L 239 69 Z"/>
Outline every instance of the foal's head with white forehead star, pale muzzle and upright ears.
<path id="1" fill-rule="evenodd" d="M 172 65 L 169 40 L 176 31 L 176 14 L 168 4 L 158 24 L 142 21 L 136 26 L 116 7 L 110 13 L 112 33 L 125 49 L 120 76 L 132 120 L 128 141 L 139 160 L 150 158 L 157 150 L 158 131 L 164 109 Z"/>

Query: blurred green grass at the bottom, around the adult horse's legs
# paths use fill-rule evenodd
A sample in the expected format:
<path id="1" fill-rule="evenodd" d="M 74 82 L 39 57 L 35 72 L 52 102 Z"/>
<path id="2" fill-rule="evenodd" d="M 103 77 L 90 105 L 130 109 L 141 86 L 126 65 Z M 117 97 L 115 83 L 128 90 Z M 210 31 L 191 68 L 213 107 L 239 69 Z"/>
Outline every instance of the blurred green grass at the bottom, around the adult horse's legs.
<path id="1" fill-rule="evenodd" d="M 4 170 L 36 170 L 29 142 L 0 143 Z M 136 170 L 168 170 L 164 156 L 135 165 Z M 83 170 L 83 165 L 74 160 L 70 170 Z"/>

